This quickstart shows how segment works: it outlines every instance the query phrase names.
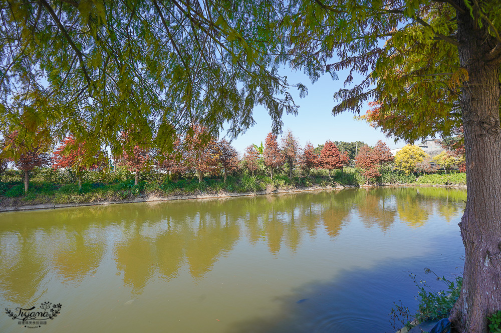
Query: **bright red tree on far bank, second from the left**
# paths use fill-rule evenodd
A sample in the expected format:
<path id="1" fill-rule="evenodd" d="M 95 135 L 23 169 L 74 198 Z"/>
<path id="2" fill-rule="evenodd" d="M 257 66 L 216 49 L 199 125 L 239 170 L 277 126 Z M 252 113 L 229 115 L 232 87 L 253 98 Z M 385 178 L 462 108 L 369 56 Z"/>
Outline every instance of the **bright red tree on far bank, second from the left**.
<path id="1" fill-rule="evenodd" d="M 52 162 L 55 169 L 73 169 L 78 177 L 78 188 L 82 189 L 82 171 L 104 168 L 108 159 L 102 150 L 91 152 L 85 147 L 85 142 L 78 143 L 70 136 L 56 148 Z"/>

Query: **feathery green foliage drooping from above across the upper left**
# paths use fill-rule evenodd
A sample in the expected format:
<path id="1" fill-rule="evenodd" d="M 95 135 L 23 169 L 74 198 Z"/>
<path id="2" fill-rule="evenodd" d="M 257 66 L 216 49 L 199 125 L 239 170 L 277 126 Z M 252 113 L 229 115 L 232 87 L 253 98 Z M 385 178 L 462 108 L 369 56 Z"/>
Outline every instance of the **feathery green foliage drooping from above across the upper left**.
<path id="1" fill-rule="evenodd" d="M 140 129 L 135 141 L 157 147 L 171 145 L 175 131 L 193 121 L 211 132 L 224 125 L 235 137 L 255 123 L 260 104 L 277 133 L 282 115 L 298 110 L 288 90 L 306 94 L 304 85 L 278 74 L 287 43 L 283 10 L 250 1 L 204 9 L 15 1 L 0 9 L 6 41 L 0 50 L 10 59 L 0 64 L 0 73 L 9 73 L 0 77 L 8 101 L 0 120 L 53 128 L 59 137 L 73 133 L 98 147 L 105 139 L 115 153 L 122 148 L 116 134 L 132 126 Z"/>

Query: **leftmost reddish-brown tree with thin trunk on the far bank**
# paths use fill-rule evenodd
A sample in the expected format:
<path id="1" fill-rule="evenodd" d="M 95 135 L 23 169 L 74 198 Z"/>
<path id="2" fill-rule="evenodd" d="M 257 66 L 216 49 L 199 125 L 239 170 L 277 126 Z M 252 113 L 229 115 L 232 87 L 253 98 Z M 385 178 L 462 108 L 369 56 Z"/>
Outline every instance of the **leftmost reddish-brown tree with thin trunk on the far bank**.
<path id="1" fill-rule="evenodd" d="M 6 137 L 7 146 L 14 152 L 10 160 L 25 173 L 25 193 L 28 192 L 30 185 L 29 172 L 36 167 L 49 165 L 51 160 L 47 154 L 47 140 L 43 135 L 34 134 L 33 138 L 27 136 L 21 138 L 19 132 L 15 131 Z"/>

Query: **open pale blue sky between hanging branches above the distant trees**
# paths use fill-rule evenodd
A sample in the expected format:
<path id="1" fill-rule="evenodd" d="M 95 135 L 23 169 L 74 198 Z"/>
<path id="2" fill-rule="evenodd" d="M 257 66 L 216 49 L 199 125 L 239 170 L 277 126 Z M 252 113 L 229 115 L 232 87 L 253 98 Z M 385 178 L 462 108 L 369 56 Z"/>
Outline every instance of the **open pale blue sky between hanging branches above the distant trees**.
<path id="1" fill-rule="evenodd" d="M 315 84 L 312 84 L 308 76 L 303 73 L 291 72 L 289 69 L 284 69 L 282 75 L 287 75 L 290 83 L 301 82 L 308 87 L 308 95 L 303 99 L 299 98 L 297 91 L 291 91 L 294 101 L 300 106 L 298 116 L 284 115 L 283 117 L 284 133 L 290 129 L 299 139 L 301 147 L 304 147 L 307 141 L 311 141 L 316 147 L 327 140 L 363 141 L 370 146 L 374 146 L 378 140 L 382 140 L 390 149 L 405 145 L 402 141 L 395 144 L 392 138 L 386 138 L 379 129 L 371 128 L 367 123 L 353 119 L 355 115 L 351 112 L 345 112 L 338 116 L 332 115 L 332 107 L 337 104 L 333 95 L 340 88 L 343 88 L 343 82 L 346 78 L 342 73 L 338 73 L 339 80 L 333 81 L 331 76 L 327 74 Z M 360 77 L 354 76 L 354 83 L 357 82 L 357 79 L 360 80 Z M 265 108 L 256 107 L 253 117 L 256 125 L 232 142 L 233 147 L 241 154 L 250 144 L 259 145 L 262 141 L 264 143 L 272 128 L 271 118 Z"/>

